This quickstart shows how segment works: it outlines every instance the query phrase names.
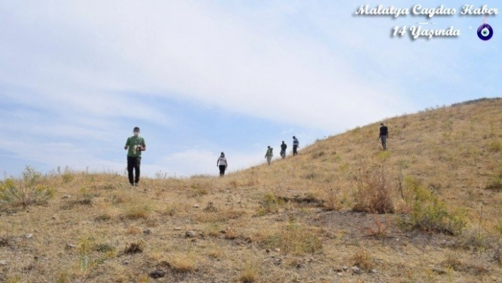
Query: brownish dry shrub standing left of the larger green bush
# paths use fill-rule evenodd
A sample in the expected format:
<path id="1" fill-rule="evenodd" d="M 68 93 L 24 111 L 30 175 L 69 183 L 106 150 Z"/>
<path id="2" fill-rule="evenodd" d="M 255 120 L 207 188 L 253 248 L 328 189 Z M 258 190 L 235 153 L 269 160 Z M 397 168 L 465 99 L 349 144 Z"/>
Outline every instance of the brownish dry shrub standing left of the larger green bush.
<path id="1" fill-rule="evenodd" d="M 369 170 L 365 165 L 358 168 L 355 204 L 352 209 L 376 213 L 394 212 L 385 160 L 373 165 Z"/>

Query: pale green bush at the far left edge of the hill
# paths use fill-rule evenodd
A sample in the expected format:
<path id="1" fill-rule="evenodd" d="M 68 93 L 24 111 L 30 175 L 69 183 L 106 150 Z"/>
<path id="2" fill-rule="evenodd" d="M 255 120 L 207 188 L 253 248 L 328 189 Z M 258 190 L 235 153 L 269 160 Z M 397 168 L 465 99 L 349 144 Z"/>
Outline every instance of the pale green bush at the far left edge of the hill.
<path id="1" fill-rule="evenodd" d="M 11 206 L 44 204 L 54 196 L 55 190 L 38 184 L 40 177 L 40 172 L 26 166 L 23 177 L 19 182 L 13 179 L 0 182 L 0 203 Z M 16 185 L 16 183 L 18 184 Z"/>

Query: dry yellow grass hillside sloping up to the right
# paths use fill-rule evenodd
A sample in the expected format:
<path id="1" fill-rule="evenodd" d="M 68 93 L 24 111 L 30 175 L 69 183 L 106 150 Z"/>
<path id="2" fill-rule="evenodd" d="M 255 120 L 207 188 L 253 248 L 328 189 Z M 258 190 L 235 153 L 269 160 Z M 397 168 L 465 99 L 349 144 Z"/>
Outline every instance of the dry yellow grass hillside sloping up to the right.
<path id="1" fill-rule="evenodd" d="M 502 99 L 386 124 L 223 178 L 27 168 L 0 282 L 502 282 Z"/>

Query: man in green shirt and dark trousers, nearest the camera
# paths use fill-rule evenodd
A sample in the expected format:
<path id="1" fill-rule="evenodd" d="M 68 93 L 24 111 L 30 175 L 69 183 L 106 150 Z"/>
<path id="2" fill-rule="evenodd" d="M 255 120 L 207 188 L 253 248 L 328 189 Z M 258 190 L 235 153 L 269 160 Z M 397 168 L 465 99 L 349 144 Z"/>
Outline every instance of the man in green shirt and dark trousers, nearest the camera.
<path id="1" fill-rule="evenodd" d="M 131 186 L 138 186 L 138 183 L 140 182 L 141 152 L 146 150 L 145 139 L 140 137 L 140 128 L 134 127 L 133 136 L 127 139 L 124 149 L 128 150 L 127 172 L 129 184 Z M 134 179 L 133 170 L 135 171 Z"/>

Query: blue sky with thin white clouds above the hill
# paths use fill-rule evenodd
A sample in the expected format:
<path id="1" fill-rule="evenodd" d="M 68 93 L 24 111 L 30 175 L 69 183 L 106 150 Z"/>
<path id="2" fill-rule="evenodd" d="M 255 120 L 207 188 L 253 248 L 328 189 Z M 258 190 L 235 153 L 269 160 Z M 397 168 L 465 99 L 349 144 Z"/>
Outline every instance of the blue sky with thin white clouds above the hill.
<path id="1" fill-rule="evenodd" d="M 453 16 L 355 16 L 359 6 L 454 8 Z M 123 172 L 134 126 L 143 174 L 218 174 L 355 126 L 499 97 L 497 1 L 1 1 L 0 172 Z M 501 6 L 502 9 L 502 6 Z M 459 29 L 391 37 L 394 26 Z M 433 24 L 434 23 L 434 24 Z M 389 125 L 391 128 L 391 125 Z"/>

